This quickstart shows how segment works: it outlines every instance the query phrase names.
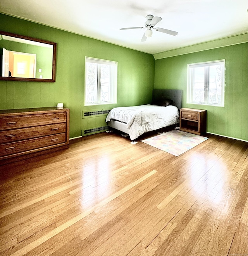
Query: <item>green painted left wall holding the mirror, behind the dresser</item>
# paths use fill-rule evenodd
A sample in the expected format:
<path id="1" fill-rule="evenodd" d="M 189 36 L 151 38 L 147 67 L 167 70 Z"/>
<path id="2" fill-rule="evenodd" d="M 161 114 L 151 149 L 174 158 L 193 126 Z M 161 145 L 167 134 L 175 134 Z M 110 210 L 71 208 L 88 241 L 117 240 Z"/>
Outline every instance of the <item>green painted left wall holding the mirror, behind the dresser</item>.
<path id="1" fill-rule="evenodd" d="M 70 108 L 70 137 L 103 126 L 105 119 L 82 119 L 84 110 L 148 104 L 154 88 L 154 58 L 114 44 L 0 14 L 0 30 L 57 43 L 55 83 L 0 81 L 0 109 Z M 84 107 L 84 57 L 118 62 L 117 104 Z"/>

